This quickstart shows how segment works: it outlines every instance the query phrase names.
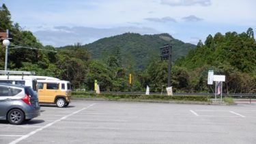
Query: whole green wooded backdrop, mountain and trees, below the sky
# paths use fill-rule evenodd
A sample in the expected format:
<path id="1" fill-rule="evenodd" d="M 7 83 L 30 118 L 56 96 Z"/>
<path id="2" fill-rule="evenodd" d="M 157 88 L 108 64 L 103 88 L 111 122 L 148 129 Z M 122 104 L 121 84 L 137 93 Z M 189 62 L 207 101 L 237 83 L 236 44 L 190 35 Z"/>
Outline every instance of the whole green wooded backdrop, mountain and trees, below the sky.
<path id="1" fill-rule="evenodd" d="M 224 93 L 256 92 L 256 42 L 252 28 L 243 33 L 228 31 L 208 35 L 205 42 L 200 40 L 197 46 L 176 40 L 167 33 L 124 33 L 92 44 L 78 42 L 55 48 L 40 43 L 31 31 L 12 21 L 4 4 L 2 8 L 0 31 L 10 29 L 12 38 L 8 70 L 34 71 L 37 75 L 68 80 L 72 89 L 93 91 L 94 80 L 97 80 L 101 91 L 145 91 L 149 85 L 151 92 L 160 92 L 167 86 L 168 63 L 160 61 L 159 48 L 169 43 L 175 54 L 171 72 L 174 92 L 212 93 L 214 85 L 207 84 L 208 70 L 226 76 Z M 106 51 L 108 53 L 104 53 Z M 5 47 L 0 44 L 2 70 L 4 61 Z M 129 74 L 132 74 L 131 84 Z"/>

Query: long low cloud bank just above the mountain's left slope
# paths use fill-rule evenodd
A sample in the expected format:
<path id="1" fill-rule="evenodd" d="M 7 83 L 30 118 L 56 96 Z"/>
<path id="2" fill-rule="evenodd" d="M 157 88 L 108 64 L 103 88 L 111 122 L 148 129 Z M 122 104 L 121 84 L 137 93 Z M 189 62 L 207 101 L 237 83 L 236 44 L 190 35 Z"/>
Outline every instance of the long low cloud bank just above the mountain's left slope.
<path id="1" fill-rule="evenodd" d="M 35 31 L 33 34 L 44 45 L 66 46 L 77 42 L 81 44 L 88 44 L 99 40 L 100 38 L 106 38 L 127 32 L 141 34 L 159 33 L 155 29 L 149 27 L 114 27 L 110 29 L 96 29 L 93 27 L 59 26 L 53 27 L 52 29 L 48 28 L 46 30 Z"/>

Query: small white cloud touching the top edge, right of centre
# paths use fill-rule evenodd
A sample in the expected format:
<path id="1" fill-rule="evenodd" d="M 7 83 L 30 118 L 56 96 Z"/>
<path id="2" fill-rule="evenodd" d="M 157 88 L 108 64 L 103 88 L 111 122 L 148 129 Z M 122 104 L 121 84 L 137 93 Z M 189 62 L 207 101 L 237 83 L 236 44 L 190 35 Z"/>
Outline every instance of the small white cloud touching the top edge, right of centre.
<path id="1" fill-rule="evenodd" d="M 161 0 L 162 4 L 176 6 L 176 5 L 184 5 L 184 6 L 190 6 L 190 5 L 203 5 L 208 6 L 211 5 L 210 0 Z"/>

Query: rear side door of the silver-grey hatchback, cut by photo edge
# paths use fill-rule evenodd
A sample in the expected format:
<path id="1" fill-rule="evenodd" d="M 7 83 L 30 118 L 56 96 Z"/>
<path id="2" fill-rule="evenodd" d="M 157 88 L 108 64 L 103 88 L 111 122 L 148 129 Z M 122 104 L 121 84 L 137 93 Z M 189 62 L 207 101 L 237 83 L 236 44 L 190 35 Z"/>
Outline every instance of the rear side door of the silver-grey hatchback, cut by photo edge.
<path id="1" fill-rule="evenodd" d="M 12 96 L 10 96 L 10 88 L 0 86 L 0 119 L 5 119 L 6 113 L 12 106 Z"/>

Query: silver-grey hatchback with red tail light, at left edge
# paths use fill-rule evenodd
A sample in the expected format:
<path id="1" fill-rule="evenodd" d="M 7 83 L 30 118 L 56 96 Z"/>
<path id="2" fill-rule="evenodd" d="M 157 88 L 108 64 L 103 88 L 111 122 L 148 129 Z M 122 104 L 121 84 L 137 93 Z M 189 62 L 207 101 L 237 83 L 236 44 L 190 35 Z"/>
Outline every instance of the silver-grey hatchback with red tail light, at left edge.
<path id="1" fill-rule="evenodd" d="M 0 83 L 0 119 L 21 124 L 39 115 L 38 96 L 31 87 Z"/>

